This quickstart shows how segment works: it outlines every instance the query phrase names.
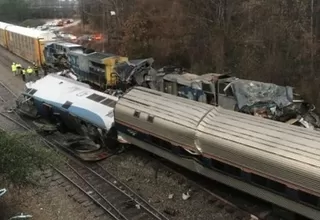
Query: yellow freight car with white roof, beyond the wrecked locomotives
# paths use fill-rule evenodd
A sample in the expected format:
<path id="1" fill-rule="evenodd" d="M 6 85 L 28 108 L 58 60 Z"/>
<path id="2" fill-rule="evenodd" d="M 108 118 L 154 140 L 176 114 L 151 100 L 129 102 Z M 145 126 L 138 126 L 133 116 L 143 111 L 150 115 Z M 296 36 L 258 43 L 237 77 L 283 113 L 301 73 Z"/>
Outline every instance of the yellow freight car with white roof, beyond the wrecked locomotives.
<path id="1" fill-rule="evenodd" d="M 0 22 L 0 45 L 29 62 L 45 63 L 43 49 L 55 34 Z"/>

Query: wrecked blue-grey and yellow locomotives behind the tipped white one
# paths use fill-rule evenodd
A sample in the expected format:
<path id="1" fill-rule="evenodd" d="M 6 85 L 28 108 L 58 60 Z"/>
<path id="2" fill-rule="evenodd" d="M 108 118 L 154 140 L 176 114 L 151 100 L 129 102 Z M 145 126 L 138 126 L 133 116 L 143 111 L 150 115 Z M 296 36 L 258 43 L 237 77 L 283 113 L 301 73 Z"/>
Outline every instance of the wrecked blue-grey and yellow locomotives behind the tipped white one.
<path id="1" fill-rule="evenodd" d="M 127 57 L 95 52 L 68 42 L 49 42 L 44 54 L 46 66 L 55 71 L 72 69 L 79 81 L 101 91 L 144 85 L 147 77 L 156 73 L 152 68 L 152 58 L 128 60 Z"/>

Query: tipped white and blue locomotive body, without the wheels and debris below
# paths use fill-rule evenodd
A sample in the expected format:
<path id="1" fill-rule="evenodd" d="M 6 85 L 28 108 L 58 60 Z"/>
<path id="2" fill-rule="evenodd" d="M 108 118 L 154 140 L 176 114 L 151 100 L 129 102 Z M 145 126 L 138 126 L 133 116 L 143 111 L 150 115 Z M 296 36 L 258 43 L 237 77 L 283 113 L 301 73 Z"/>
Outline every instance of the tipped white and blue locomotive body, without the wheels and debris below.
<path id="1" fill-rule="evenodd" d="M 115 96 L 91 89 L 87 84 L 50 74 L 26 83 L 23 93 L 39 115 L 78 133 L 95 130 L 107 135 L 114 125 Z"/>

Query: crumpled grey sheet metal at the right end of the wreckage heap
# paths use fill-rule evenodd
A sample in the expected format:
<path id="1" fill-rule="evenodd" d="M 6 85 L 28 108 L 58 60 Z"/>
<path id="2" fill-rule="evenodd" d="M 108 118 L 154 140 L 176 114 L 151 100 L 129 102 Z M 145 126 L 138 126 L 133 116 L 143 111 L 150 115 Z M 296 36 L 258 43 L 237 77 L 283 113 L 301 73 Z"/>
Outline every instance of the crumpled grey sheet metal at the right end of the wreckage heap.
<path id="1" fill-rule="evenodd" d="M 320 128 L 315 107 L 295 99 L 293 88 L 250 80 L 230 83 L 237 100 L 237 110 L 305 128 Z"/>

